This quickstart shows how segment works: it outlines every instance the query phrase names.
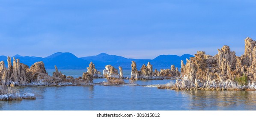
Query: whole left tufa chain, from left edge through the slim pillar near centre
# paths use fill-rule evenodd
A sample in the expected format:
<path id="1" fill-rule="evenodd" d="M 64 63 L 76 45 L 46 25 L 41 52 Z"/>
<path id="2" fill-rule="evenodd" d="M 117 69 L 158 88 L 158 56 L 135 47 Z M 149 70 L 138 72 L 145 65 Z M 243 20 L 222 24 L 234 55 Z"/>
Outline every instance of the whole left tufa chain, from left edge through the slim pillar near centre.
<path id="1" fill-rule="evenodd" d="M 86 85 L 92 83 L 93 76 L 95 76 L 94 72 L 98 74 L 98 71 L 94 68 L 92 63 L 92 67 L 89 67 L 89 69 L 94 68 L 92 74 L 84 73 L 82 77 L 74 79 L 74 77 L 66 77 L 59 72 L 56 65 L 53 77 L 51 77 L 46 72 L 43 62 L 36 62 L 31 65 L 30 68 L 27 65 L 20 63 L 19 59 L 13 58 L 12 65 L 11 57 L 8 57 L 7 62 L 8 68 L 5 67 L 3 61 L 0 62 L 0 85 Z"/>

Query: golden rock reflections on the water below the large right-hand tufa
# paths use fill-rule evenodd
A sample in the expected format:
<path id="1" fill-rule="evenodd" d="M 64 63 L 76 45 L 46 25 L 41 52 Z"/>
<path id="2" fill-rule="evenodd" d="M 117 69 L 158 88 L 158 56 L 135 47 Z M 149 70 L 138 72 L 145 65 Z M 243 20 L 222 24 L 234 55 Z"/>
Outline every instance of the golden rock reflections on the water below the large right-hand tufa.
<path id="1" fill-rule="evenodd" d="M 256 109 L 256 91 L 181 91 L 181 93 L 189 97 L 189 110 Z"/>

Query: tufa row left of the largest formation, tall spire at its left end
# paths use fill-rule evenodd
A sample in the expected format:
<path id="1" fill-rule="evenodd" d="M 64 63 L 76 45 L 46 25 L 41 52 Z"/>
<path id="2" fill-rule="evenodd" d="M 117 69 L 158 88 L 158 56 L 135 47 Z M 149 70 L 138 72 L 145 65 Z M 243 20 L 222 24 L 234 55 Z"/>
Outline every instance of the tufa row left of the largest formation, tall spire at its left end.
<path id="1" fill-rule="evenodd" d="M 171 66 L 171 69 L 161 69 L 160 72 L 155 69 L 153 72 L 150 62 L 147 66 L 143 64 L 140 71 L 137 70 L 136 62 L 132 61 L 131 63 L 131 80 L 176 79 L 179 76 L 180 72 L 174 65 Z"/>

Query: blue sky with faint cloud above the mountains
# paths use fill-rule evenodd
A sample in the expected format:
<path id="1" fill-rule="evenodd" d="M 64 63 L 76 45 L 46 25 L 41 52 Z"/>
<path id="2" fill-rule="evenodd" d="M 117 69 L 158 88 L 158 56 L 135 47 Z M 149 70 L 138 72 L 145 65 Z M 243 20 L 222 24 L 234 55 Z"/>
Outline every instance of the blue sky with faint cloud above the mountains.
<path id="1" fill-rule="evenodd" d="M 161 54 L 238 56 L 256 40 L 255 0 L 0 0 L 0 55 L 46 57 L 101 52 L 152 59 Z"/>

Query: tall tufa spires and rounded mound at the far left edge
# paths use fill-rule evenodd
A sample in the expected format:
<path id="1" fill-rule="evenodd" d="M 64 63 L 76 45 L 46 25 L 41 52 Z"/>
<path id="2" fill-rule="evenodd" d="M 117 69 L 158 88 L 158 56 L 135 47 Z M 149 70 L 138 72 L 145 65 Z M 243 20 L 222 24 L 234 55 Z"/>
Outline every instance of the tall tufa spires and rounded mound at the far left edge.
<path id="1" fill-rule="evenodd" d="M 19 59 L 13 57 L 13 65 L 11 63 L 11 57 L 8 57 L 8 68 L 5 67 L 4 62 L 0 62 L 0 79 L 1 85 L 15 86 L 15 85 L 28 85 L 31 82 L 46 77 L 45 66 L 43 62 L 36 62 L 30 68 L 20 63 Z"/>

